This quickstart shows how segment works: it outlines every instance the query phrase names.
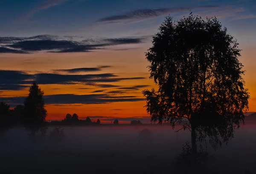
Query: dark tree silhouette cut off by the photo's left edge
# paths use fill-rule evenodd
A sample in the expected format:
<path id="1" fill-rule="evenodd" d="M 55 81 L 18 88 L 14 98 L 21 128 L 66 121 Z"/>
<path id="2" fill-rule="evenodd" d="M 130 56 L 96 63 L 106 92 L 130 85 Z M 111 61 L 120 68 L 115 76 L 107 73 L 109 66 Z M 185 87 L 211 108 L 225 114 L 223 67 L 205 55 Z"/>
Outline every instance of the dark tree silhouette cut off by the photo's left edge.
<path id="1" fill-rule="evenodd" d="M 11 126 L 11 119 L 9 114 L 10 105 L 5 102 L 0 103 L 0 137 Z"/>

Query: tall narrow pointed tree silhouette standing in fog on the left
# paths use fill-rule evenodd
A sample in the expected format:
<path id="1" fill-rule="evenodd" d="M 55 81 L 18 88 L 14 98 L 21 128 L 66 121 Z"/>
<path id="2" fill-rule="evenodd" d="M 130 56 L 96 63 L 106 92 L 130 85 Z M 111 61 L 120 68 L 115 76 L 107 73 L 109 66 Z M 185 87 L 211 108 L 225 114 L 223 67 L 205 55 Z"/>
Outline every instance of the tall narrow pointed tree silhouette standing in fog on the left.
<path id="1" fill-rule="evenodd" d="M 44 91 L 35 82 L 29 88 L 29 96 L 24 102 L 23 122 L 35 139 L 35 132 L 44 124 L 47 110 L 44 109 Z"/>

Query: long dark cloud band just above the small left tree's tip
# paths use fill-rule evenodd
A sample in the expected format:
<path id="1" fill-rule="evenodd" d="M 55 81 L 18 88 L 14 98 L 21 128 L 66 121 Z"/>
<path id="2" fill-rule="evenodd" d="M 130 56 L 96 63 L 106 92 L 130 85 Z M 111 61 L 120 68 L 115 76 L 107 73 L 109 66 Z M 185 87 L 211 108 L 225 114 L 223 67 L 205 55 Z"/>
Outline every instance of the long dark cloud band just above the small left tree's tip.
<path id="1" fill-rule="evenodd" d="M 97 84 L 102 82 L 117 82 L 122 80 L 144 79 L 144 77 L 118 78 L 112 73 L 67 75 L 54 73 L 28 74 L 23 71 L 0 70 L 0 84 L 87 84 L 99 87 L 118 87 L 112 84 Z"/>

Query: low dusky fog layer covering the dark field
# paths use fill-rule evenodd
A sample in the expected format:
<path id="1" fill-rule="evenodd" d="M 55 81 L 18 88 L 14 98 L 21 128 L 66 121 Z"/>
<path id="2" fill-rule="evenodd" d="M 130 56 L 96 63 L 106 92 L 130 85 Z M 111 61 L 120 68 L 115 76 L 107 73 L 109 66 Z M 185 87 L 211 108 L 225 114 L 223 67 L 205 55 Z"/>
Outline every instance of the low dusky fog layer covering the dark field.
<path id="1" fill-rule="evenodd" d="M 23 127 L 4 134 L 0 145 L 0 171 L 36 173 L 172 173 L 172 161 L 190 141 L 189 131 L 169 125 L 62 126 L 65 138 L 59 141 L 36 135 L 32 142 Z M 140 132 L 148 129 L 151 138 Z M 216 151 L 208 144 L 210 172 L 256 173 L 256 125 L 241 126 L 228 145 Z M 205 144 L 203 144 L 205 147 Z M 186 167 L 186 166 L 184 166 Z"/>

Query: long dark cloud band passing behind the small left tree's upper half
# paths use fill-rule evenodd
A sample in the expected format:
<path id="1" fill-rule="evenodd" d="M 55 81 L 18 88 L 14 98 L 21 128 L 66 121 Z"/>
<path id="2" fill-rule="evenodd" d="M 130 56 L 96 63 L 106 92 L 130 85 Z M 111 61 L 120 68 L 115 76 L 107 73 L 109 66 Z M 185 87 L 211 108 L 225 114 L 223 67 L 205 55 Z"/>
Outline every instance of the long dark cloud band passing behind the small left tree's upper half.
<path id="1" fill-rule="evenodd" d="M 25 98 L 26 97 L 0 97 L 0 100 L 11 105 L 17 105 L 22 104 Z M 44 96 L 45 104 L 104 104 L 112 102 L 137 102 L 144 100 L 144 98 L 137 98 L 136 96 L 110 96 L 107 94 L 56 94 Z"/>

